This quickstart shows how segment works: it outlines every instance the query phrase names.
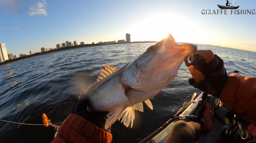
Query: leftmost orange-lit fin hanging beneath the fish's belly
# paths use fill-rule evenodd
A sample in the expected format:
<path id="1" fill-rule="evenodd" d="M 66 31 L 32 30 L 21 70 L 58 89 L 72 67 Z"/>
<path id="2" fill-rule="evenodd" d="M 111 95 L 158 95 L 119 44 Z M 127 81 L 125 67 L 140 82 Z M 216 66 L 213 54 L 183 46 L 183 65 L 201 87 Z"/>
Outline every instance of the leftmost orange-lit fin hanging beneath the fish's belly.
<path id="1" fill-rule="evenodd" d="M 105 123 L 105 129 L 108 129 L 112 124 L 116 122 L 118 117 L 121 115 L 121 113 L 124 111 L 125 107 L 119 107 L 114 110 L 111 110 L 108 115 L 111 115 L 108 120 L 106 120 Z"/>

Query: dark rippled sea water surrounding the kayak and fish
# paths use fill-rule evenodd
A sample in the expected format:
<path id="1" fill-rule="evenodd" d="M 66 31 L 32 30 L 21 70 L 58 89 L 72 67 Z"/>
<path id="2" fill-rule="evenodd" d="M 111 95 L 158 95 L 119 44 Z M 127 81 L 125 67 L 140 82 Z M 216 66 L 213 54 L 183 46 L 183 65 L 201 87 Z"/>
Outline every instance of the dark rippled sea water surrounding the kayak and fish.
<path id="1" fill-rule="evenodd" d="M 0 119 L 19 123 L 42 124 L 46 113 L 53 124 L 62 122 L 78 99 L 77 77 L 96 79 L 105 64 L 121 68 L 154 43 L 104 45 L 60 51 L 0 67 Z M 227 71 L 256 77 L 256 53 L 220 46 L 198 45 L 210 49 L 223 60 Z M 201 91 L 188 84 L 190 74 L 182 64 L 177 77 L 151 99 L 154 110 L 144 105 L 136 111 L 133 128 L 120 122 L 112 126 L 113 142 L 139 142 L 165 123 L 193 93 Z M 51 142 L 53 127 L 19 125 L 0 121 L 0 142 Z"/>

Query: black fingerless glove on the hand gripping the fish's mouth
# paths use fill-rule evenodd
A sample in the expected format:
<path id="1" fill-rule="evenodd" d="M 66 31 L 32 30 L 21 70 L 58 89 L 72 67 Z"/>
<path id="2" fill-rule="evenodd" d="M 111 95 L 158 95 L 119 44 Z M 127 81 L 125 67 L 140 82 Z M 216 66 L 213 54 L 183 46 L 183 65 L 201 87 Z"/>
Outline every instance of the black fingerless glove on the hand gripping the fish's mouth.
<path id="1" fill-rule="evenodd" d="M 207 94 L 220 97 L 228 78 L 223 60 L 215 55 L 214 60 L 208 64 L 204 63 L 199 70 L 204 74 L 205 79 L 196 83 L 192 77 L 188 79 L 189 84 Z"/>

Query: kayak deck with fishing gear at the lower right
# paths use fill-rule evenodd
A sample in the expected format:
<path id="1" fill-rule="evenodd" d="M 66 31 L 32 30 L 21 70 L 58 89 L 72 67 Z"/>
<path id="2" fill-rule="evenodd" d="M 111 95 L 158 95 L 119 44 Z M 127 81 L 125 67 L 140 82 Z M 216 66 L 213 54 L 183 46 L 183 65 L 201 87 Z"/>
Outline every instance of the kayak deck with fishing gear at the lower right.
<path id="1" fill-rule="evenodd" d="M 234 72 L 238 73 L 238 71 Z M 230 73 L 231 72 L 229 72 L 228 75 Z M 221 101 L 219 101 L 219 98 L 202 92 L 183 112 L 178 111 L 175 116 L 170 118 L 170 120 L 159 127 L 151 135 L 141 140 L 139 143 L 164 142 L 169 135 L 170 130 L 172 130 L 174 124 L 177 121 L 193 121 L 193 118 L 197 117 L 201 112 L 205 102 L 210 103 L 213 112 L 212 114 L 214 115 L 211 117 L 212 129 L 207 134 L 201 133 L 201 136 L 197 141 L 198 143 L 247 142 L 248 140 L 252 140 L 248 139 L 248 131 L 244 131 L 242 127 L 240 129 L 239 125 L 237 125 L 238 123 L 240 124 L 240 120 L 238 120 L 237 123 L 234 122 L 237 121 L 234 120 L 237 118 L 228 108 L 222 105 Z M 236 116 L 239 117 L 238 115 Z M 230 117 L 232 118 L 230 119 Z M 241 133 L 241 130 L 243 133 Z M 256 138 L 254 137 L 253 139 Z"/>

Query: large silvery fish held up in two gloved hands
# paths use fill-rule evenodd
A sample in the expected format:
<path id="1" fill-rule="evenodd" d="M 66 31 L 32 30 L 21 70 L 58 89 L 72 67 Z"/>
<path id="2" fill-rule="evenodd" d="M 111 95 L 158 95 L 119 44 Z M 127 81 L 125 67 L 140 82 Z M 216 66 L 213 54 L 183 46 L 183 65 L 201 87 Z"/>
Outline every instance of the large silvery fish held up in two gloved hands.
<path id="1" fill-rule="evenodd" d="M 126 127 L 133 127 L 135 110 L 143 112 L 143 102 L 153 110 L 150 98 L 177 76 L 185 56 L 196 51 L 196 45 L 178 44 L 169 34 L 120 69 L 104 66 L 97 81 L 82 89 L 88 110 L 109 111 L 105 129 L 121 119 Z"/>

